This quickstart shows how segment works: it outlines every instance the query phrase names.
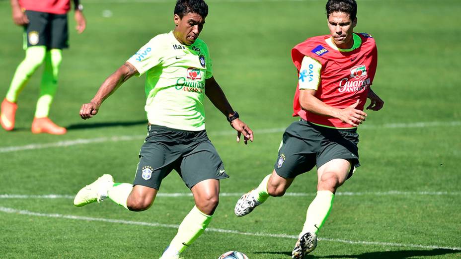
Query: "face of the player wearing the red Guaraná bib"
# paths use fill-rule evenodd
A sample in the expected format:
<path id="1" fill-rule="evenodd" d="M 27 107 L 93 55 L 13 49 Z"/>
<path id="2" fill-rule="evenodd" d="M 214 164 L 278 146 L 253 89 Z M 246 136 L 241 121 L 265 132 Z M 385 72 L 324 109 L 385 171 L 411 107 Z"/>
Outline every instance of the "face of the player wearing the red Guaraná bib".
<path id="1" fill-rule="evenodd" d="M 328 28 L 336 47 L 350 49 L 354 45 L 352 31 L 357 25 L 357 18 L 351 20 L 348 13 L 333 12 L 328 17 Z"/>

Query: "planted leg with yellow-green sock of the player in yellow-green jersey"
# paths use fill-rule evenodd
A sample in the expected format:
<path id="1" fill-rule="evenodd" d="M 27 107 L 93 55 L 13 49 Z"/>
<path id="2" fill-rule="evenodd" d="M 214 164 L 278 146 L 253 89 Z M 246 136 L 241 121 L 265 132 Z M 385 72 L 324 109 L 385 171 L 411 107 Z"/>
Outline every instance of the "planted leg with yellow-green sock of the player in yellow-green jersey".
<path id="1" fill-rule="evenodd" d="M 210 224 L 219 203 L 219 180 L 208 179 L 196 184 L 191 189 L 195 206 L 183 219 L 178 233 L 163 252 L 160 259 L 177 259 Z"/>

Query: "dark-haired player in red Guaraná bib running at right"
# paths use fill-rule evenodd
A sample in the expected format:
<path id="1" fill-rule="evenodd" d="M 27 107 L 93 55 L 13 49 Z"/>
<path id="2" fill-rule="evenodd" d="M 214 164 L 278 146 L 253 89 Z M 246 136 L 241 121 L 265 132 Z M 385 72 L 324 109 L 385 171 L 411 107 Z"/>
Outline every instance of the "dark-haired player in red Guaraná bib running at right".
<path id="1" fill-rule="evenodd" d="M 284 132 L 272 174 L 235 205 L 235 214 L 244 216 L 269 196 L 285 194 L 296 176 L 316 166 L 317 195 L 307 209 L 294 259 L 315 249 L 337 188 L 360 165 L 357 127 L 367 117 L 367 97 L 367 109 L 378 111 L 384 105 L 370 88 L 378 63 L 375 40 L 353 33 L 356 1 L 328 0 L 326 14 L 330 34 L 309 38 L 292 50 L 299 75 L 293 116 L 301 119 Z"/>

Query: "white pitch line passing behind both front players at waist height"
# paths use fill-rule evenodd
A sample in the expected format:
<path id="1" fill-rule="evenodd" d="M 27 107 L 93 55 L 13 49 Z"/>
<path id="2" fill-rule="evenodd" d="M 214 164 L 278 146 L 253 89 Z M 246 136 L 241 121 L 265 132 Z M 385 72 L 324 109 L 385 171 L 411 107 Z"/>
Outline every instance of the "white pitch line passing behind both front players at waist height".
<path id="1" fill-rule="evenodd" d="M 383 125 L 363 125 L 360 126 L 360 129 L 402 129 L 402 128 L 426 128 L 426 127 L 457 127 L 461 126 L 461 121 L 452 121 L 452 122 L 416 122 L 416 123 L 392 123 L 392 124 L 383 124 Z M 272 129 L 256 129 L 254 130 L 255 134 L 268 134 L 268 133 L 279 133 L 283 132 L 286 128 L 272 128 Z M 232 135 L 235 134 L 235 130 L 223 130 L 223 131 L 211 131 L 208 132 L 211 136 L 221 136 L 221 135 Z M 139 140 L 145 138 L 146 135 L 122 135 L 122 136 L 112 136 L 112 137 L 97 137 L 97 138 L 78 138 L 73 140 L 64 140 L 59 142 L 52 143 L 43 143 L 43 144 L 28 144 L 23 146 L 6 146 L 0 147 L 0 153 L 16 152 L 23 150 L 34 150 L 34 149 L 43 149 L 51 147 L 65 147 L 65 146 L 74 146 L 74 145 L 84 145 L 92 143 L 101 143 L 101 142 L 118 142 L 118 141 L 131 141 Z"/>

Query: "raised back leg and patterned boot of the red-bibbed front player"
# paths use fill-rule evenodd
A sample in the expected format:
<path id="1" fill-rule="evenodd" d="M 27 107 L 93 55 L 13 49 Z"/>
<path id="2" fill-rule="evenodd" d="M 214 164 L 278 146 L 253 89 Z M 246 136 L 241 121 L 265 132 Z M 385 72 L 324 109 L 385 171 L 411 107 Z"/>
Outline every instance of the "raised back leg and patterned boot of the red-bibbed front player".
<path id="1" fill-rule="evenodd" d="M 238 217 L 249 214 L 253 209 L 262 204 L 269 196 L 283 196 L 294 178 L 283 178 L 275 170 L 267 175 L 259 186 L 246 194 L 243 194 L 235 204 L 234 213 Z"/>

